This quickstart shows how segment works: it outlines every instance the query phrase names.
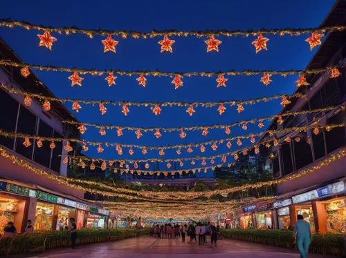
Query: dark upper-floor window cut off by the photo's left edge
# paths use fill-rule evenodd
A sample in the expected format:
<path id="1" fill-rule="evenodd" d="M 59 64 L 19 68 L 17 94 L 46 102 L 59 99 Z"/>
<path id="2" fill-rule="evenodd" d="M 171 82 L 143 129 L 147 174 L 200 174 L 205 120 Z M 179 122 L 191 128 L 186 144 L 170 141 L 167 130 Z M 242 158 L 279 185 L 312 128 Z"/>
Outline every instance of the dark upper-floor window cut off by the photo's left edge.
<path id="1" fill-rule="evenodd" d="M 1 117 L 0 128 L 8 132 L 15 132 L 19 103 L 8 95 L 4 90 L 0 90 Z M 13 150 L 14 138 L 0 136 L 0 144 Z"/>

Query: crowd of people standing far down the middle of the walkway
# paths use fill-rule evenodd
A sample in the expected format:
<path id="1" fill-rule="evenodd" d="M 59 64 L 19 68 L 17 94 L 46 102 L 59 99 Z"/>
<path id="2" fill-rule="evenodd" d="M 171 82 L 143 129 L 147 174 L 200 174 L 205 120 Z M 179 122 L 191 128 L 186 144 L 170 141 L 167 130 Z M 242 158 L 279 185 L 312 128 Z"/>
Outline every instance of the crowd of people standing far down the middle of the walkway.
<path id="1" fill-rule="evenodd" d="M 150 237 L 176 239 L 181 237 L 181 241 L 185 242 L 186 237 L 190 237 L 190 243 L 200 246 L 208 244 L 208 237 L 210 237 L 210 245 L 217 246 L 217 239 L 220 235 L 220 226 L 203 224 L 153 224 L 149 231 Z"/>

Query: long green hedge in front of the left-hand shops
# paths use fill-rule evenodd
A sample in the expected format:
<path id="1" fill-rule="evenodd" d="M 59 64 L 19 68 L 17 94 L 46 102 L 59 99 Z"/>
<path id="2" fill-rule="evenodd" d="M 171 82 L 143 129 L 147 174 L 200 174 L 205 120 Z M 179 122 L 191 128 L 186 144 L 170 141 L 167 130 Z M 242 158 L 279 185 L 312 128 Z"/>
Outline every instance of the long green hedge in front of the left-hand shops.
<path id="1" fill-rule="evenodd" d="M 140 230 L 139 235 L 146 235 L 147 230 Z M 62 248 L 71 246 L 71 233 L 67 230 L 42 230 L 37 232 L 18 235 L 17 237 L 1 237 L 0 239 L 0 255 L 4 255 L 10 248 L 10 254 L 20 254 L 24 249 L 33 249 L 43 247 L 46 239 L 46 249 Z M 76 244 L 89 244 L 108 241 L 109 237 L 117 237 L 117 239 L 125 239 L 135 237 L 136 230 L 134 228 L 82 228 L 77 230 Z M 12 242 L 12 244 L 10 244 Z"/>

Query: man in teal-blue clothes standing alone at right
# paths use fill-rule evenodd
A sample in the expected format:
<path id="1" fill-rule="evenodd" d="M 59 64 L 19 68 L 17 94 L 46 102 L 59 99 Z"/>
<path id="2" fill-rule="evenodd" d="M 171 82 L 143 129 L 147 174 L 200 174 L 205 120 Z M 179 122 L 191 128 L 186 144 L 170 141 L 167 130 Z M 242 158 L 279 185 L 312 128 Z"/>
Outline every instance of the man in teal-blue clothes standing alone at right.
<path id="1" fill-rule="evenodd" d="M 310 224 L 304 221 L 302 215 L 297 216 L 298 221 L 294 224 L 294 239 L 300 252 L 300 257 L 306 258 L 309 252 L 309 244 L 311 243 Z"/>

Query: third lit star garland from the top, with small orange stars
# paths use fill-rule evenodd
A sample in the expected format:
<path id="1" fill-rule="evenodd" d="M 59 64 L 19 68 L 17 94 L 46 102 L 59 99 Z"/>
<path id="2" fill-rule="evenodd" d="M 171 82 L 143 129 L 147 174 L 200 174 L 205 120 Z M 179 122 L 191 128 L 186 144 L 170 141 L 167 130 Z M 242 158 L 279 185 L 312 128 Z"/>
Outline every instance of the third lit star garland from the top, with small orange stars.
<path id="1" fill-rule="evenodd" d="M 104 115 L 104 113 L 107 112 L 107 108 L 104 105 L 111 104 L 111 105 L 122 106 L 122 113 L 124 113 L 125 116 L 130 112 L 128 106 L 151 106 L 151 109 L 153 112 L 158 110 L 159 106 L 183 106 L 183 107 L 189 106 L 189 108 L 188 108 L 188 110 L 186 110 L 186 112 L 188 112 L 188 114 L 190 116 L 192 116 L 192 114 L 195 112 L 193 107 L 202 106 L 202 107 L 210 108 L 210 107 L 214 107 L 214 106 L 219 106 L 217 111 L 219 112 L 220 115 L 222 115 L 222 113 L 224 113 L 226 110 L 226 107 L 224 105 L 230 105 L 230 106 L 238 105 L 239 106 L 239 104 L 242 104 L 242 105 L 255 104 L 255 103 L 259 103 L 261 101 L 266 102 L 266 101 L 269 101 L 272 99 L 282 98 L 281 105 L 286 106 L 289 103 L 291 103 L 291 101 L 289 101 L 289 99 L 291 99 L 293 97 L 302 97 L 302 98 L 306 97 L 306 95 L 303 95 L 300 93 L 295 93 L 293 95 L 287 95 L 287 94 L 273 95 L 271 97 L 260 97 L 260 98 L 256 98 L 256 99 L 247 99 L 247 100 L 210 101 L 210 102 L 184 102 L 184 101 L 166 101 L 166 102 L 140 101 L 140 102 L 136 102 L 136 101 L 105 101 L 105 100 L 95 101 L 95 100 L 85 100 L 85 99 L 66 99 L 66 98 L 58 98 L 58 97 L 46 97 L 46 96 L 42 96 L 42 95 L 35 94 L 32 92 L 24 92 L 22 90 L 10 88 L 3 83 L 0 84 L 0 87 L 8 90 L 8 92 L 11 92 L 11 93 L 15 92 L 16 94 L 24 97 L 24 99 L 26 100 L 25 103 L 28 104 L 28 106 L 31 105 L 33 97 L 44 100 L 43 107 L 46 111 L 49 111 L 51 109 L 51 103 L 49 101 L 58 101 L 58 102 L 63 102 L 63 103 L 64 102 L 73 102 L 73 108 L 75 106 L 77 106 L 78 104 L 80 105 L 80 103 L 92 104 L 92 105 L 98 104 L 100 106 L 101 114 Z M 81 108 L 82 108 L 82 106 L 80 106 L 80 108 L 75 109 L 75 110 L 79 111 Z M 160 112 L 161 112 L 161 110 L 160 110 Z M 158 112 L 157 114 L 159 114 L 160 112 Z"/>

